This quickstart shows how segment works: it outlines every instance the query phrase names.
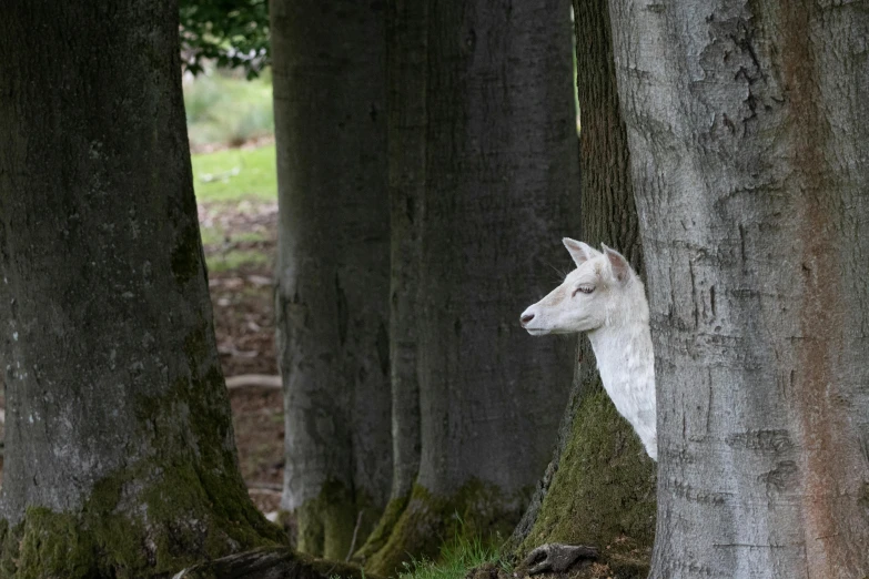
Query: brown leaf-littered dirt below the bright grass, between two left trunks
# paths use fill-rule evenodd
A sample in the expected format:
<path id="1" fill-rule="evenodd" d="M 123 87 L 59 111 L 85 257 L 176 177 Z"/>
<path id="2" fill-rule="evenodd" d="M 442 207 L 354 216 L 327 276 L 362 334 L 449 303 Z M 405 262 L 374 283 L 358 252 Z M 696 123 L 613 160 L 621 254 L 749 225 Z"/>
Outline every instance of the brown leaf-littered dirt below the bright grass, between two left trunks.
<path id="1" fill-rule="evenodd" d="M 201 204 L 200 223 L 203 230 L 219 231 L 221 237 L 205 244 L 205 256 L 211 264 L 209 290 L 224 376 L 277 375 L 272 285 L 276 203 Z M 252 253 L 264 258 L 234 258 Z M 276 510 L 284 467 L 281 390 L 233 388 L 230 402 L 239 463 L 251 498 L 264 512 Z"/>

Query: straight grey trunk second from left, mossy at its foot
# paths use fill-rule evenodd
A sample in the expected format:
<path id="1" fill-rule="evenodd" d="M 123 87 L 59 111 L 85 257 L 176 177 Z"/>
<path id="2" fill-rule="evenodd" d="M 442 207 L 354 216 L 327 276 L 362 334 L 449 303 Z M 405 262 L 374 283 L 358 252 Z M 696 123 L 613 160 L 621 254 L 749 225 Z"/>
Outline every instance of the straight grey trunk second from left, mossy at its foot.
<path id="1" fill-rule="evenodd" d="M 274 0 L 271 17 L 282 505 L 301 550 L 343 560 L 392 477 L 384 12 Z"/>

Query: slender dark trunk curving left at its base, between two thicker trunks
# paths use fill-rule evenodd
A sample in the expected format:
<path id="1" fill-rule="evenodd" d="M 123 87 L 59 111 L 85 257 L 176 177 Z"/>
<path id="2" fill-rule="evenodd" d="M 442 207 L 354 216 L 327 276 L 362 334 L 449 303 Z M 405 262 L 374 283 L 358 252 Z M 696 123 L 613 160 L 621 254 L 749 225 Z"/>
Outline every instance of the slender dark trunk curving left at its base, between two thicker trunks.
<path id="1" fill-rule="evenodd" d="M 386 18 L 390 226 L 390 362 L 393 478 L 383 517 L 355 555 L 364 562 L 383 548 L 420 473 L 417 293 L 420 226 L 425 190 L 426 22 L 428 2 L 388 0 Z"/>

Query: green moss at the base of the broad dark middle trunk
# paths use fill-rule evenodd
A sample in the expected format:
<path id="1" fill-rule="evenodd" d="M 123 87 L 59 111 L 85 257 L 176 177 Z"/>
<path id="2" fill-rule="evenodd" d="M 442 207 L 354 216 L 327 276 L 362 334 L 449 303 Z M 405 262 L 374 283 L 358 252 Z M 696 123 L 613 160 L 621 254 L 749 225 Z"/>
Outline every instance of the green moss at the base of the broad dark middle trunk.
<path id="1" fill-rule="evenodd" d="M 454 495 L 443 497 L 416 485 L 388 540 L 365 569 L 394 575 L 414 558 L 434 558 L 446 538 L 506 537 L 522 515 L 518 507 L 527 502 L 528 492 L 506 497 L 493 485 L 471 480 Z"/>

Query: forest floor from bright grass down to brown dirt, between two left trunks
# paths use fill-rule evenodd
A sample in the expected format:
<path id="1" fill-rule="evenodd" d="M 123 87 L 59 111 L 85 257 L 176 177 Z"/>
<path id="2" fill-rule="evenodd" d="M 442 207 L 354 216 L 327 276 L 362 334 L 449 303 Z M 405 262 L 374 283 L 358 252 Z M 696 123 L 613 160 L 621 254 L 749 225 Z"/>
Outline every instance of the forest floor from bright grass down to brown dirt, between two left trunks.
<path id="1" fill-rule="evenodd" d="M 274 148 L 229 150 L 193 159 L 199 219 L 223 374 L 277 376 L 274 258 L 277 203 Z M 215 177 L 214 175 L 218 175 Z M 220 176 L 223 175 L 223 176 Z M 232 193 L 230 193 L 232 192 Z M 279 388 L 231 388 L 239 463 L 251 498 L 274 511 L 283 482 L 283 399 Z"/>

